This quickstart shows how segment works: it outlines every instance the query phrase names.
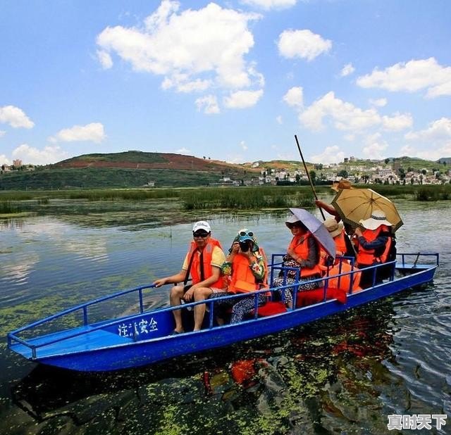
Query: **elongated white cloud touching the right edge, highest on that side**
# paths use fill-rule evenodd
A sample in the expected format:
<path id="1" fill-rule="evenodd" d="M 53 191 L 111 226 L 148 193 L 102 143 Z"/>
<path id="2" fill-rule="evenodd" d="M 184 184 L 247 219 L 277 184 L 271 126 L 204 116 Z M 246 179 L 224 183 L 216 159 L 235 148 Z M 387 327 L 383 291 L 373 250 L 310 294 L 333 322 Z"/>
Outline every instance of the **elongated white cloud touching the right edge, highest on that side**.
<path id="1" fill-rule="evenodd" d="M 439 65 L 435 58 L 396 63 L 393 66 L 363 75 L 357 85 L 364 88 L 381 88 L 392 92 L 416 92 L 427 89 L 426 96 L 451 95 L 451 67 Z"/>

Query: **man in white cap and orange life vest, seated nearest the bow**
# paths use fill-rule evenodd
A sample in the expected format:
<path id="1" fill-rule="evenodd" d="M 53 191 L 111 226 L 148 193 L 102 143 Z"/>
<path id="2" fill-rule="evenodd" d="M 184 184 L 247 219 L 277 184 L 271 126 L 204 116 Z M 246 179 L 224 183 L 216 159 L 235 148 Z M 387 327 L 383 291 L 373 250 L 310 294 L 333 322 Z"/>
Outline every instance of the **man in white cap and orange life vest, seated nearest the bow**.
<path id="1" fill-rule="evenodd" d="M 226 293 L 226 280 L 221 274 L 221 266 L 226 260 L 221 243 L 211 237 L 208 222 L 200 220 L 192 227 L 193 241 L 185 256 L 182 270 L 170 277 L 157 279 L 156 287 L 164 284 L 175 284 L 169 294 L 171 306 L 180 305 L 183 301 L 203 301 L 211 294 Z M 187 285 L 189 277 L 192 284 Z M 182 282 L 183 284 L 178 284 Z M 205 304 L 194 306 L 194 331 L 199 331 L 204 320 Z M 184 332 L 182 313 L 173 311 L 175 320 L 175 334 Z"/>

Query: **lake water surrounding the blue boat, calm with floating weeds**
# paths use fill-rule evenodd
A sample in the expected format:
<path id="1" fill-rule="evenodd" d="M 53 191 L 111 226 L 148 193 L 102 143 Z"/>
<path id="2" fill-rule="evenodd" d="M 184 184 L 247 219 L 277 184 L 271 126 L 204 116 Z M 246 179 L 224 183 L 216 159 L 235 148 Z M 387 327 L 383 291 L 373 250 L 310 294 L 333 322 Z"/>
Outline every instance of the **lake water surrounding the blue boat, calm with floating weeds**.
<path id="1" fill-rule="evenodd" d="M 451 434 L 450 203 L 397 201 L 398 252 L 439 252 L 434 283 L 264 339 L 136 370 L 80 374 L 0 345 L 0 434 L 393 434 L 388 415 L 446 414 Z M 178 272 L 194 220 L 267 253 L 286 213 L 148 213 L 0 220 L 1 335 L 76 303 Z M 150 305 L 168 304 L 155 289 Z M 397 432 L 399 433 L 399 432 Z"/>

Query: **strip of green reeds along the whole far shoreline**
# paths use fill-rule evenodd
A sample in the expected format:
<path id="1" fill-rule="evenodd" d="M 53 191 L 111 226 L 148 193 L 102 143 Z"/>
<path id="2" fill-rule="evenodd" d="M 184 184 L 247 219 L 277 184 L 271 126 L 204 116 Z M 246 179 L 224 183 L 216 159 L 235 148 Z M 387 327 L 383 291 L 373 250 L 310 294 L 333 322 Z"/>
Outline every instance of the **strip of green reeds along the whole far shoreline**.
<path id="1" fill-rule="evenodd" d="M 390 199 L 407 198 L 412 201 L 449 201 L 451 184 L 442 185 L 378 185 L 357 184 L 370 187 Z M 333 193 L 328 186 L 317 186 L 316 194 Z M 197 187 L 156 189 L 77 189 L 51 191 L 0 191 L 0 217 L 22 213 L 46 214 L 61 201 L 148 201 L 174 199 L 186 211 L 192 210 L 258 210 L 314 206 L 314 196 L 309 186 L 261 187 Z M 97 206 L 97 211 L 99 207 Z M 100 210 L 101 211 L 101 210 Z"/>

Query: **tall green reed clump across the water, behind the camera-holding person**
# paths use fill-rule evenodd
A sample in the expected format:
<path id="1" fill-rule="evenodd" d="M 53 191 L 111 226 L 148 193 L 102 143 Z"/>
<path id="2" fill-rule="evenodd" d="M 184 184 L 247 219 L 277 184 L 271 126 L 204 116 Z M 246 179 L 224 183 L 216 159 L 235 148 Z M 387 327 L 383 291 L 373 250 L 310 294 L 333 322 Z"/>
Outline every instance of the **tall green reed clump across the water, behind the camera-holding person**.
<path id="1" fill-rule="evenodd" d="M 299 187 L 219 187 L 181 192 L 185 210 L 252 210 L 314 206 L 311 191 Z"/>

